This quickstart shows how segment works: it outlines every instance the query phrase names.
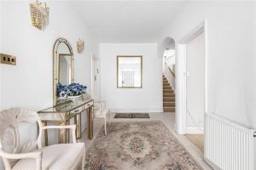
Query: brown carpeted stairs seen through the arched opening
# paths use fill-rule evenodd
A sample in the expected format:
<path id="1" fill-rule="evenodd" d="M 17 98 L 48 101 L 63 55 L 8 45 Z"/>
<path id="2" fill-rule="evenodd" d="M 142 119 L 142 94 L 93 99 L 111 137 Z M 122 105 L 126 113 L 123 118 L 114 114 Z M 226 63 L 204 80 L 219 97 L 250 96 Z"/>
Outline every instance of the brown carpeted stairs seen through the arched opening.
<path id="1" fill-rule="evenodd" d="M 175 112 L 174 90 L 165 76 L 163 76 L 163 108 L 164 112 Z"/>

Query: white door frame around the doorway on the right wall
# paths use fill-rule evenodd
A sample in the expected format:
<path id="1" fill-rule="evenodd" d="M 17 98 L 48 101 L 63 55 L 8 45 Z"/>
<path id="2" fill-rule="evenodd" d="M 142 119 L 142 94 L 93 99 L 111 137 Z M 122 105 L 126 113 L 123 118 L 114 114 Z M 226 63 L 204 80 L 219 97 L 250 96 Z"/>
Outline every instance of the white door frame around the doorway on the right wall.
<path id="1" fill-rule="evenodd" d="M 186 134 L 186 119 L 187 119 L 187 87 L 186 87 L 186 66 L 187 66 L 187 43 L 194 39 L 195 37 L 199 36 L 201 33 L 204 34 L 205 37 L 205 82 L 204 82 L 204 123 L 206 122 L 206 113 L 208 109 L 208 101 L 207 101 L 207 20 L 204 20 L 199 26 L 189 32 L 185 37 L 181 38 L 180 41 L 177 41 L 177 115 L 176 115 L 176 124 L 177 124 L 177 133 L 179 134 Z M 204 125 L 206 127 L 206 125 Z M 204 133 L 206 128 L 204 128 Z"/>

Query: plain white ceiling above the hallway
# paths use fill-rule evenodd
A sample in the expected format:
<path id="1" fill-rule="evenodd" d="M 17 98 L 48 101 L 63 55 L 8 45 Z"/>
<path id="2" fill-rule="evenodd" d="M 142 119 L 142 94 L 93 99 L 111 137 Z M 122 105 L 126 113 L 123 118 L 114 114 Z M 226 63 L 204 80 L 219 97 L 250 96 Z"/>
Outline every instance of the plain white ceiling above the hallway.
<path id="1" fill-rule="evenodd" d="M 156 42 L 184 1 L 73 1 L 100 42 Z"/>

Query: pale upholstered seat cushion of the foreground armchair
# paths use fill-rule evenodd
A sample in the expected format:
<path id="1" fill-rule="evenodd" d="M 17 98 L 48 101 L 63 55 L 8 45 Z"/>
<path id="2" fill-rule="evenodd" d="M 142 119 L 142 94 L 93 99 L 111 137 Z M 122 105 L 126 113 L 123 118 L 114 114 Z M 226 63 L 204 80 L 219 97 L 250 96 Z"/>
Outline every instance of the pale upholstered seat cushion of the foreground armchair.
<path id="1" fill-rule="evenodd" d="M 83 156 L 84 143 L 76 144 L 54 144 L 42 148 L 42 170 L 67 170 L 74 169 L 74 166 Z M 34 170 L 36 169 L 35 159 L 21 159 L 15 163 L 13 170 Z"/>

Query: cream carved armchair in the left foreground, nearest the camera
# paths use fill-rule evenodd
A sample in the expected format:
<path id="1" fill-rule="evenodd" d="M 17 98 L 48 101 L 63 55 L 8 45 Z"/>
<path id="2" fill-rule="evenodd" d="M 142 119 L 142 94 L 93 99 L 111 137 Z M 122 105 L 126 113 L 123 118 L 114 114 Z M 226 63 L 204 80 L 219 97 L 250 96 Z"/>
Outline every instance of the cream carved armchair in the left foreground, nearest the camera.
<path id="1" fill-rule="evenodd" d="M 38 139 L 21 145 L 20 122 L 38 122 Z M 73 144 L 42 147 L 43 130 L 53 128 L 70 128 Z M 75 125 L 43 126 L 36 112 L 14 108 L 0 112 L 0 156 L 6 170 L 84 169 L 85 146 L 76 143 Z"/>

